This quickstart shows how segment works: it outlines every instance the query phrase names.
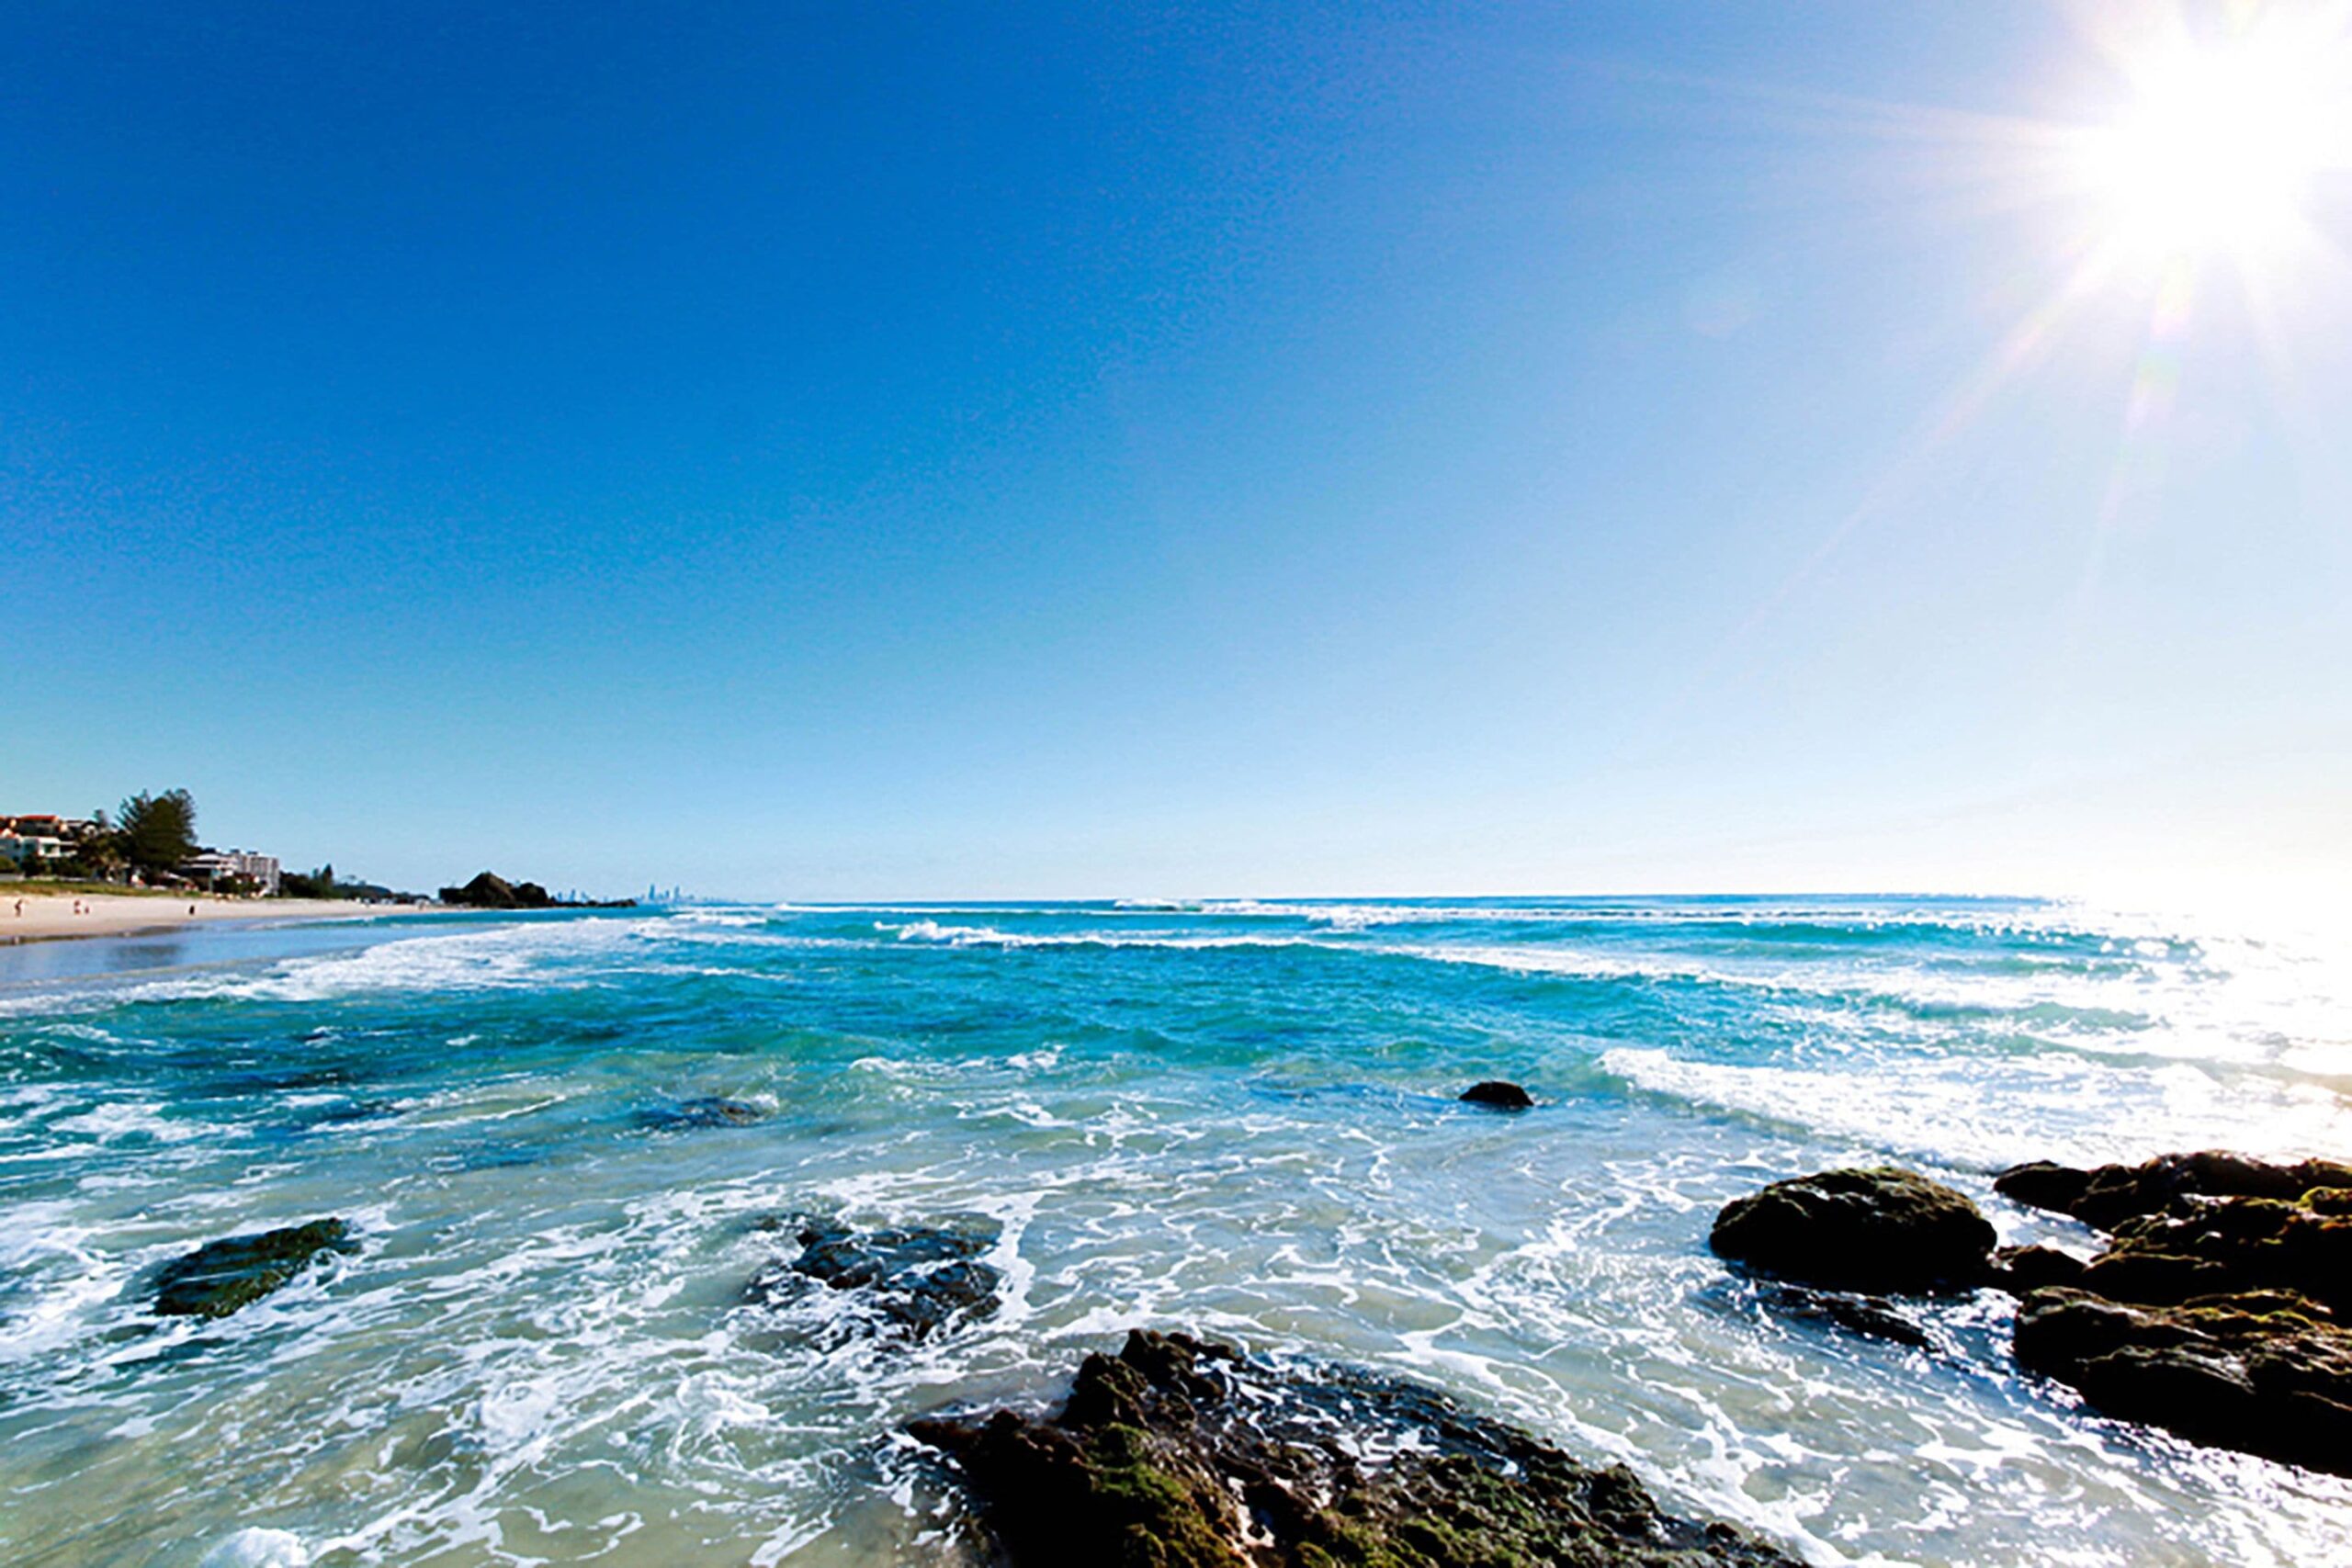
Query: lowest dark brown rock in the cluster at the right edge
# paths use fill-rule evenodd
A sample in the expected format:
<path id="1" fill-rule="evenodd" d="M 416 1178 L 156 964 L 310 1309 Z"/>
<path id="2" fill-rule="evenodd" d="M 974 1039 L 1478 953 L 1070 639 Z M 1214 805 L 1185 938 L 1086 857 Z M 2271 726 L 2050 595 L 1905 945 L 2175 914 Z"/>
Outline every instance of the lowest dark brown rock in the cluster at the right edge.
<path id="1" fill-rule="evenodd" d="M 2018 1366 L 2199 1443 L 2352 1474 L 2352 1333 L 2286 1293 L 2136 1307 L 2063 1286 L 2018 1307 Z"/>

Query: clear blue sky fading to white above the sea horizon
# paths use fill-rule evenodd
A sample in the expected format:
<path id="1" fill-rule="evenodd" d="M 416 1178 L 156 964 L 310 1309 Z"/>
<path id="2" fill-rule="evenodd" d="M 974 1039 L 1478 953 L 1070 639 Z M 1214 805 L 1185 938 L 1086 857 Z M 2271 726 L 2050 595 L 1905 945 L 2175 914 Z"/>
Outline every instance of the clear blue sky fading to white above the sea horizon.
<path id="1" fill-rule="evenodd" d="M 2343 9 L 9 5 L 0 811 L 2340 886 Z"/>

